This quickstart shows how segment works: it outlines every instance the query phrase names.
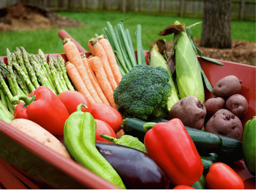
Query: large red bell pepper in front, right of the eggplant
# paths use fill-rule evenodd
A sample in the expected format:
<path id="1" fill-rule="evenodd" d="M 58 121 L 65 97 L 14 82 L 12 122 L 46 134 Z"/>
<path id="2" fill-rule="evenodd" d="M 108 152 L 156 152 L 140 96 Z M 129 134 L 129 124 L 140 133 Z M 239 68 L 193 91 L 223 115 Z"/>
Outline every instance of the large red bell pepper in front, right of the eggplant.
<path id="1" fill-rule="evenodd" d="M 201 177 L 202 160 L 180 119 L 156 123 L 146 132 L 144 144 L 148 154 L 162 166 L 173 185 L 191 186 Z"/>

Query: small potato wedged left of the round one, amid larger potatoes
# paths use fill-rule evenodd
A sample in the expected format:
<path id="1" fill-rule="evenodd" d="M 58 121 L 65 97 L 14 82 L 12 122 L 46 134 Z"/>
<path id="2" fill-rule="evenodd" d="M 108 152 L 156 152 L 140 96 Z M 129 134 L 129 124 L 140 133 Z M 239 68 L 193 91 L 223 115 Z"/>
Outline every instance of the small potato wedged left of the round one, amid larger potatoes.
<path id="1" fill-rule="evenodd" d="M 205 103 L 206 114 L 212 117 L 217 111 L 225 108 L 225 100 L 222 97 L 209 98 Z"/>

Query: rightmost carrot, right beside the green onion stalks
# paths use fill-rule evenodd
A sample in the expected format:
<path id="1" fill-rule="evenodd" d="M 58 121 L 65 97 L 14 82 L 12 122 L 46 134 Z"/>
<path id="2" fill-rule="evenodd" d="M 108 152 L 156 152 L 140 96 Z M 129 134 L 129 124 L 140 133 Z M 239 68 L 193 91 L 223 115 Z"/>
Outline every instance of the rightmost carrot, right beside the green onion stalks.
<path id="1" fill-rule="evenodd" d="M 103 49 L 105 50 L 105 53 L 106 53 L 107 59 L 108 59 L 108 63 L 110 65 L 110 68 L 111 68 L 114 78 L 116 80 L 116 83 L 117 83 L 117 85 L 119 85 L 119 82 L 122 79 L 122 74 L 117 65 L 116 57 L 114 56 L 110 42 L 107 39 L 105 39 L 103 35 L 98 36 L 97 39 L 98 39 L 98 42 L 103 47 Z"/>

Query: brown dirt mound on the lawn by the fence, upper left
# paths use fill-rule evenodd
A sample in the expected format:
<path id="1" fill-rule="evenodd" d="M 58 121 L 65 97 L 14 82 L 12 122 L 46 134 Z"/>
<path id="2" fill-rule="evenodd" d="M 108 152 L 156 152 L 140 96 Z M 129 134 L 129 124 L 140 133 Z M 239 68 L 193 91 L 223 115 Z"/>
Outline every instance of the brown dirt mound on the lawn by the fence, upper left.
<path id="1" fill-rule="evenodd" d="M 80 25 L 79 21 L 60 17 L 54 12 L 36 5 L 15 4 L 0 9 L 0 31 L 79 27 Z"/>

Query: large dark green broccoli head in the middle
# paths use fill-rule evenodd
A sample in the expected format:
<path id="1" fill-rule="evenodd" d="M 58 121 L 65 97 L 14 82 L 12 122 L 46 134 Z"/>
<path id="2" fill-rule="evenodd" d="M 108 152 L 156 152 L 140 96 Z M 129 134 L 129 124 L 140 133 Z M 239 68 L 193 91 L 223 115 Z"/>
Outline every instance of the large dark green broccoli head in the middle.
<path id="1" fill-rule="evenodd" d="M 165 107 L 171 96 L 168 71 L 160 66 L 137 65 L 114 90 L 114 102 L 124 115 L 146 119 L 155 108 Z"/>

